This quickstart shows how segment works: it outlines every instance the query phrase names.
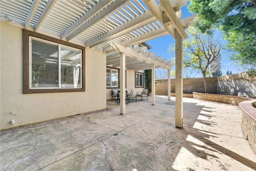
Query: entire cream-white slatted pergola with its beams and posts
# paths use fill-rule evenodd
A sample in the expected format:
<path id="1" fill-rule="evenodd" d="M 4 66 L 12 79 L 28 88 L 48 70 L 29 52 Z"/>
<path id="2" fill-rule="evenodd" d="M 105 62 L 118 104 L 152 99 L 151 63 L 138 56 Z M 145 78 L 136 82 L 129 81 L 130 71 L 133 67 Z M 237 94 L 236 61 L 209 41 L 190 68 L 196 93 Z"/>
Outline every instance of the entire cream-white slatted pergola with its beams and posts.
<path id="1" fill-rule="evenodd" d="M 120 67 L 120 113 L 125 114 L 125 69 L 152 69 L 152 105 L 155 105 L 155 68 L 172 64 L 130 46 L 172 35 L 176 42 L 176 127 L 182 127 L 182 39 L 197 14 L 182 18 L 187 0 L 1 0 L 1 22 L 34 32 L 47 32 L 68 42 L 106 53 L 106 65 Z M 6 17 L 7 16 L 7 17 Z M 4 21 L 4 18 L 7 19 Z"/>

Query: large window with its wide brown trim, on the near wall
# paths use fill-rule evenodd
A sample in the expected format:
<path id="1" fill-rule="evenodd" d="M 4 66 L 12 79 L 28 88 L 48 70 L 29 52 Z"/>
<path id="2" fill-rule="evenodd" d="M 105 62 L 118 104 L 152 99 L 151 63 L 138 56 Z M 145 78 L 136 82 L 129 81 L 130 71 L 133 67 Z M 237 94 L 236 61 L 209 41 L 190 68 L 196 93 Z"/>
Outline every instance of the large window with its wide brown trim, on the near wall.
<path id="1" fill-rule="evenodd" d="M 85 48 L 23 30 L 23 93 L 85 91 Z"/>

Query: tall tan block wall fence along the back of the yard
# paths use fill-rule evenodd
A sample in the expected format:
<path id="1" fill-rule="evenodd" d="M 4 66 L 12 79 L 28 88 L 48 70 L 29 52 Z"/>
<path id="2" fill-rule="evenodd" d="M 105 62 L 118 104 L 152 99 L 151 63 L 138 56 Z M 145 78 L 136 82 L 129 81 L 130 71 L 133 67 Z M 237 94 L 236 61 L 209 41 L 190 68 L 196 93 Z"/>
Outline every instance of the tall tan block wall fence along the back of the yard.
<path id="1" fill-rule="evenodd" d="M 256 98 L 256 76 L 245 72 L 206 78 L 208 93 Z M 156 94 L 167 95 L 167 80 L 156 80 Z M 183 93 L 204 93 L 203 78 L 184 78 Z M 171 93 L 175 93 L 175 79 L 171 79 Z"/>

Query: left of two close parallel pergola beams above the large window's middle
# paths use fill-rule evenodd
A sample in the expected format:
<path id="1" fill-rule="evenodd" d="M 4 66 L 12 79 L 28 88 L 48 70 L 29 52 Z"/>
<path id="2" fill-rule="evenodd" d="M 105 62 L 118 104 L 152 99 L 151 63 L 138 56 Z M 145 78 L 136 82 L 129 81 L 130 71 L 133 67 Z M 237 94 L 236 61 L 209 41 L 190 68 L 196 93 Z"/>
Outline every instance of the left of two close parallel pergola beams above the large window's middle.
<path id="1" fill-rule="evenodd" d="M 68 34 L 75 31 L 77 28 L 82 26 L 82 24 L 86 23 L 88 20 L 90 20 L 93 16 L 98 14 L 102 9 L 104 9 L 106 6 L 108 6 L 113 0 L 102 0 L 97 2 L 96 5 L 92 6 L 88 12 L 84 13 L 76 22 L 74 22 L 71 26 L 69 26 L 62 34 L 61 39 L 64 39 L 68 36 Z"/>

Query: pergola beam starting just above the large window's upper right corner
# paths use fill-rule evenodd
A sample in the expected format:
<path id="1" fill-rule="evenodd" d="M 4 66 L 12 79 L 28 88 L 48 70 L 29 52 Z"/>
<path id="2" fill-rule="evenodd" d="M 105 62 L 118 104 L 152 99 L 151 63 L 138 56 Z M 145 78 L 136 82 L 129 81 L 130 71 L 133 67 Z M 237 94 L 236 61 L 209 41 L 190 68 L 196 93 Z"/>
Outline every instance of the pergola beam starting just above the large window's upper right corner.
<path id="1" fill-rule="evenodd" d="M 85 46 L 92 48 L 155 21 L 156 18 L 154 17 L 154 15 L 152 15 L 149 11 L 146 11 L 143 14 L 140 14 L 139 16 L 136 16 L 131 20 L 128 20 L 127 22 L 113 28 L 112 30 L 105 32 L 97 36 L 96 38 L 93 38 L 92 40 L 86 42 Z"/>

